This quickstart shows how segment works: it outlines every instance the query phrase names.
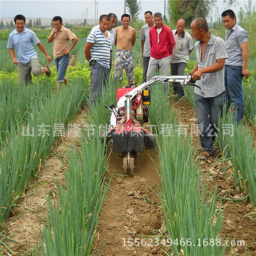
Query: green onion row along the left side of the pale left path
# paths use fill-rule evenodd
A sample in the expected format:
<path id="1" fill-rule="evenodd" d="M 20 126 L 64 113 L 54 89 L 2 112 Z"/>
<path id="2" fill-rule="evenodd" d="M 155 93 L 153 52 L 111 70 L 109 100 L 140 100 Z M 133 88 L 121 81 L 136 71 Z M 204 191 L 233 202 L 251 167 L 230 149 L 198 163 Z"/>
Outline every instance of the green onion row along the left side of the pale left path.
<path id="1" fill-rule="evenodd" d="M 31 104 L 27 113 L 28 129 L 24 129 L 21 124 L 10 129 L 6 138 L 8 144 L 2 147 L 0 155 L 0 226 L 58 138 L 53 136 L 54 124 L 67 125 L 87 93 L 84 85 L 77 81 L 61 90 L 59 95 L 39 99 L 39 104 Z M 9 104 L 6 107 L 12 108 Z M 47 131 L 48 134 L 37 129 L 42 125 L 52 128 Z M 30 136 L 26 136 L 28 132 Z"/>

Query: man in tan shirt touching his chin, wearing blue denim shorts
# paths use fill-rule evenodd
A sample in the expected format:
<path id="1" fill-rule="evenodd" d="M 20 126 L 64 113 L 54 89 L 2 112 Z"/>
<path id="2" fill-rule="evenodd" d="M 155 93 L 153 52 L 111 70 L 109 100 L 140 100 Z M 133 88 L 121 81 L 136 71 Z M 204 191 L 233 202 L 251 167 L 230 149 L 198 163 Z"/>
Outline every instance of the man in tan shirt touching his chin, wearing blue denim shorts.
<path id="1" fill-rule="evenodd" d="M 47 42 L 53 42 L 53 56 L 57 70 L 57 90 L 59 91 L 62 83 L 68 84 L 65 74 L 69 63 L 69 53 L 75 47 L 78 38 L 70 29 L 63 26 L 60 16 L 53 17 L 52 23 L 54 29 L 49 35 Z M 69 40 L 73 41 L 70 47 Z"/>

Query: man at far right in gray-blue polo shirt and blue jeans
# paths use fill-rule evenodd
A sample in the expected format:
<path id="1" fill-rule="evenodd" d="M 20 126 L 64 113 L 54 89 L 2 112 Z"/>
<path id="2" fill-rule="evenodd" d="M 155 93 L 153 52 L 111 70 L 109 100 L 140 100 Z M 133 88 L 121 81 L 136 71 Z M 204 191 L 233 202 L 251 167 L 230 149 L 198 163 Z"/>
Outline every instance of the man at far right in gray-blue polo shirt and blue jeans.
<path id="1" fill-rule="evenodd" d="M 226 50 L 228 58 L 225 60 L 225 94 L 227 110 L 231 101 L 236 109 L 236 120 L 240 122 L 244 115 L 244 99 L 242 91 L 243 76 L 248 78 L 248 35 L 243 28 L 237 25 L 236 16 L 232 10 L 222 14 L 222 21 L 226 27 Z"/>

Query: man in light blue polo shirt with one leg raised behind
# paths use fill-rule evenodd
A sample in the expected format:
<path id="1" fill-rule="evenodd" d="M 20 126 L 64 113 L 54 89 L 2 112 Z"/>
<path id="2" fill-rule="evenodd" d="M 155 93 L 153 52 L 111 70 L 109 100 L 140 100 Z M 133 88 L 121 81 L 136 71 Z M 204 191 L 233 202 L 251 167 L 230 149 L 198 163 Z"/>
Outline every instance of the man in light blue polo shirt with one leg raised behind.
<path id="1" fill-rule="evenodd" d="M 50 76 L 51 71 L 48 66 L 41 67 L 33 44 L 39 47 L 48 61 L 51 61 L 51 57 L 48 55 L 35 33 L 25 27 L 26 18 L 21 14 L 16 15 L 14 17 L 14 23 L 16 29 L 9 35 L 7 48 L 9 48 L 13 63 L 18 65 L 19 85 L 32 83 L 31 70 L 34 76 L 39 76 L 43 73 Z M 14 49 L 17 54 L 17 59 Z"/>

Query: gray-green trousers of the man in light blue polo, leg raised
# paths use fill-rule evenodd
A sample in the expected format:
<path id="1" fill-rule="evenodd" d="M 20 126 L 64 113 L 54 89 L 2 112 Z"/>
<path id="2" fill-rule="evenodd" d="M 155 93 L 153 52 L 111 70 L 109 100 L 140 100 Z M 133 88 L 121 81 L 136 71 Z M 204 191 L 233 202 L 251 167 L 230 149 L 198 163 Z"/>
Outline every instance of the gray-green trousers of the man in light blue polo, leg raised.
<path id="1" fill-rule="evenodd" d="M 18 64 L 19 85 L 32 84 L 31 70 L 34 76 L 39 76 L 42 74 L 42 68 L 38 61 L 38 58 L 33 58 L 25 64 Z"/>

